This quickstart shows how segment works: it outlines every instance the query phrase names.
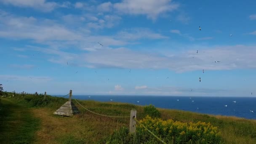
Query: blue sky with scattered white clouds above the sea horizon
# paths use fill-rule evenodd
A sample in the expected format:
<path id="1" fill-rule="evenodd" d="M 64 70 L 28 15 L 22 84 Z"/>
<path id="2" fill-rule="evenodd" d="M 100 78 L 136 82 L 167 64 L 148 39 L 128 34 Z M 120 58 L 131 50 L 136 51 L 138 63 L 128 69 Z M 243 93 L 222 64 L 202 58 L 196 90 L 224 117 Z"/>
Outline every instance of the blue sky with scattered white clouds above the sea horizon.
<path id="1" fill-rule="evenodd" d="M 48 94 L 255 96 L 255 5 L 0 0 L 0 83 Z"/>

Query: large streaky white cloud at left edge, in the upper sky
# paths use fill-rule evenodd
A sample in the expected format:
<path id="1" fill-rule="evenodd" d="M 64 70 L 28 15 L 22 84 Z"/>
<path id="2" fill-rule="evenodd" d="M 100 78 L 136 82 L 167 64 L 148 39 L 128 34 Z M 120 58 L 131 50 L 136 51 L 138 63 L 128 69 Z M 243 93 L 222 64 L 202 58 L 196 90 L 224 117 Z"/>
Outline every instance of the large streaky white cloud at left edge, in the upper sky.
<path id="1" fill-rule="evenodd" d="M 87 18 L 97 20 L 96 17 L 90 15 L 84 17 L 86 18 L 85 21 L 87 21 Z M 91 47 L 93 44 L 97 44 L 99 40 L 105 46 L 125 44 L 124 41 L 116 40 L 113 36 L 90 36 L 91 30 L 89 27 L 85 27 L 86 23 L 77 25 L 77 23 L 83 21 L 80 18 L 81 16 L 66 15 L 61 17 L 62 21 L 56 21 L 2 13 L 0 14 L 0 25 L 3 27 L 0 27 L 0 37 L 14 40 L 33 40 L 35 43 L 51 45 L 53 48 Z M 101 20 L 96 21 L 96 26 L 98 25 L 100 28 L 113 27 L 121 18 L 106 15 L 103 19 L 103 23 Z"/>

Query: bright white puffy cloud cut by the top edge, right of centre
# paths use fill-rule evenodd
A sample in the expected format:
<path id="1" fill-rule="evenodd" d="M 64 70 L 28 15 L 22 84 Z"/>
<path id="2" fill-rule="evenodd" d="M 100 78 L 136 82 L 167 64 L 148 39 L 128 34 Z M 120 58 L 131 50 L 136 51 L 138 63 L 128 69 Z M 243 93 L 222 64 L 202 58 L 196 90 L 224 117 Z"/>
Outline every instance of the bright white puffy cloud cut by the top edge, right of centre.
<path id="1" fill-rule="evenodd" d="M 172 0 L 123 0 L 121 3 L 114 3 L 113 7 L 119 13 L 142 14 L 155 20 L 162 13 L 176 10 L 179 4 L 172 3 Z"/>

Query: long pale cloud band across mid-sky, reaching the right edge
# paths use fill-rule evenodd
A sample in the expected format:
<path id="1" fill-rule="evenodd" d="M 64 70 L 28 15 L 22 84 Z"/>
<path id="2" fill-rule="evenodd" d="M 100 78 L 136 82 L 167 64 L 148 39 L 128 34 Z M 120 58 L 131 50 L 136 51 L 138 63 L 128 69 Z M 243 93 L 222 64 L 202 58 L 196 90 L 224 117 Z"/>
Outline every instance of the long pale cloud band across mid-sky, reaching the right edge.
<path id="1" fill-rule="evenodd" d="M 161 51 L 165 56 L 132 51 L 127 48 L 99 50 L 83 55 L 83 61 L 94 67 L 116 67 L 136 69 L 170 69 L 176 72 L 194 70 L 229 70 L 256 68 L 256 46 L 189 46 L 193 50 L 170 53 Z M 199 53 L 196 51 L 199 50 Z M 170 56 L 171 55 L 171 56 Z M 194 57 L 194 58 L 192 58 Z M 122 61 L 122 62 L 120 62 Z M 214 61 L 221 61 L 215 63 Z"/>

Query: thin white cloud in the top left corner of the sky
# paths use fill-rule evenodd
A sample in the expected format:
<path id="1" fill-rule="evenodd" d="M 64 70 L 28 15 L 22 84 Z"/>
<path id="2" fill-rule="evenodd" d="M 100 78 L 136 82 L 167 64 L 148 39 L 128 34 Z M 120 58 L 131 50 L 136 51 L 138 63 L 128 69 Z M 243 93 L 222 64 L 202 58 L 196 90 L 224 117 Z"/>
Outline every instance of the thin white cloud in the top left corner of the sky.
<path id="1" fill-rule="evenodd" d="M 55 2 L 46 2 L 46 0 L 1 0 L 5 5 L 13 5 L 16 7 L 34 8 L 43 12 L 51 12 L 57 7 L 68 7 L 69 2 L 65 1 L 62 4 Z"/>

